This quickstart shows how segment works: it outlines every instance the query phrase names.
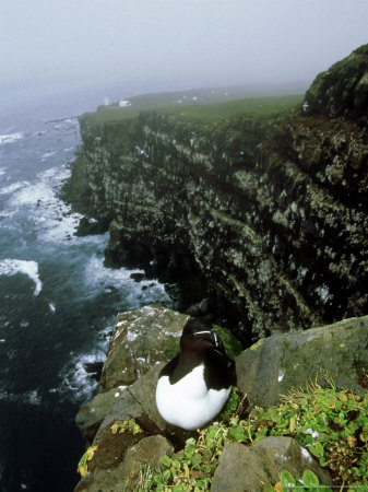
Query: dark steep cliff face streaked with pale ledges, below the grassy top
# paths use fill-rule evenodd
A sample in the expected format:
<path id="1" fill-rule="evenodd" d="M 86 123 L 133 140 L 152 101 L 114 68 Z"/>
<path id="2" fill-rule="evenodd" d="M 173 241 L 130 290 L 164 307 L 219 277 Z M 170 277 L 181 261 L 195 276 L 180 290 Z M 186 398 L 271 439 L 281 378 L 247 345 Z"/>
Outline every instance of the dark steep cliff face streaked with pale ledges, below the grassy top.
<path id="1" fill-rule="evenodd" d="M 80 126 L 75 186 L 110 224 L 108 263 L 174 278 L 188 303 L 210 295 L 245 342 L 367 313 L 361 121 L 309 108 L 213 125 L 85 116 Z"/>

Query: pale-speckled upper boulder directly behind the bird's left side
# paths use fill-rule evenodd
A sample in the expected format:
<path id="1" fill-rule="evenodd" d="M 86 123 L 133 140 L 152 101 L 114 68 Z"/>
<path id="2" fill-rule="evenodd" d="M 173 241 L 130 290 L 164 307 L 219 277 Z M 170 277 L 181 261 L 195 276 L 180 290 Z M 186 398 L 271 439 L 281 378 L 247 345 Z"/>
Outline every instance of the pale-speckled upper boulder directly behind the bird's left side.
<path id="1" fill-rule="evenodd" d="M 189 316 L 157 306 L 119 314 L 100 378 L 107 391 L 132 384 L 156 362 L 179 351 L 179 338 Z"/>

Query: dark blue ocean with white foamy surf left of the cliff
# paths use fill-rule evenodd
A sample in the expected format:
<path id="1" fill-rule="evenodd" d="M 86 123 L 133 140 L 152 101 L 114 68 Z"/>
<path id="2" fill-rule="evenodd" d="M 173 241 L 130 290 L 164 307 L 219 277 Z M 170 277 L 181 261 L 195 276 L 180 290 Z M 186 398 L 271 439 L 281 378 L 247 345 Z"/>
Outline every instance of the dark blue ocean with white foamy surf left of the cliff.
<path id="1" fill-rule="evenodd" d="M 128 92 L 129 94 L 129 92 Z M 104 267 L 108 234 L 73 233 L 59 198 L 81 144 L 76 115 L 103 92 L 0 99 L 0 490 L 72 491 L 85 445 L 74 424 L 97 388 L 117 313 L 170 305 L 139 270 Z"/>

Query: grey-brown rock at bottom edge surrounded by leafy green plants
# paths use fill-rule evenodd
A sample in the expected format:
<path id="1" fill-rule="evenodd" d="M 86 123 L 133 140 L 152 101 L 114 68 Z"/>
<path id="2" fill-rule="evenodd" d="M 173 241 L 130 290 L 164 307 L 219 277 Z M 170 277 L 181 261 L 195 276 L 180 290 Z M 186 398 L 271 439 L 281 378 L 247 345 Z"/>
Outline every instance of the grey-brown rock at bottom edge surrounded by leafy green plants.
<path id="1" fill-rule="evenodd" d="M 283 470 L 301 478 L 306 469 L 312 470 L 321 484 L 332 484 L 330 475 L 292 437 L 266 437 L 251 446 L 227 443 L 211 491 L 261 492 L 264 483 L 275 484 Z"/>

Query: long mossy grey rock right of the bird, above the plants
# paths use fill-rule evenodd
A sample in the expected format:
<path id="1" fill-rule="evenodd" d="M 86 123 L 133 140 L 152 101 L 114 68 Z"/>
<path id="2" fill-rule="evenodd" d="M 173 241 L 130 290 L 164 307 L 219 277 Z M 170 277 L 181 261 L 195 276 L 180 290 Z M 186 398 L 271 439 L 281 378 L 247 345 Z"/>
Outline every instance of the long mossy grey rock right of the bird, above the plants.
<path id="1" fill-rule="evenodd" d="M 358 394 L 368 370 L 368 316 L 261 339 L 236 358 L 238 386 L 251 403 L 270 407 L 292 388 L 328 372 L 337 387 Z M 361 383 L 361 380 L 360 380 Z"/>

